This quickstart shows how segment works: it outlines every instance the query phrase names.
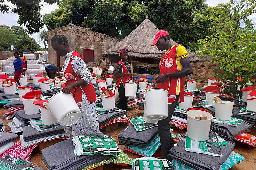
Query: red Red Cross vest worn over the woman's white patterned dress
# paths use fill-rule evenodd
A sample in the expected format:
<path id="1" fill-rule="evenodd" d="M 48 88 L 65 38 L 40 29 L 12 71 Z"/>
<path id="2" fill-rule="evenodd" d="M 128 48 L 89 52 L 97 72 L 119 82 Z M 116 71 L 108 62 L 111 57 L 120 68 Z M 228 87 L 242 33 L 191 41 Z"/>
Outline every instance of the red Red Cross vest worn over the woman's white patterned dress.
<path id="1" fill-rule="evenodd" d="M 63 84 L 62 88 L 82 79 L 81 75 L 77 75 L 73 69 L 73 66 L 71 63 L 73 56 L 77 56 L 84 61 L 84 59 L 77 52 L 73 51 L 73 53 L 70 57 L 70 60 L 69 60 L 69 64 L 64 72 L 64 77 L 67 79 L 67 82 L 65 84 Z M 91 82 L 84 86 L 75 87 L 75 88 L 71 89 L 71 93 L 73 94 L 74 99 L 79 107 L 82 104 L 83 92 L 84 92 L 89 103 L 94 103 L 96 101 L 95 90 L 94 90 L 93 84 Z"/>

